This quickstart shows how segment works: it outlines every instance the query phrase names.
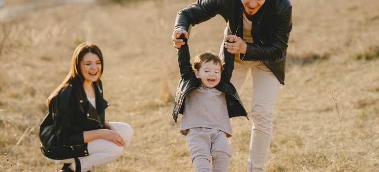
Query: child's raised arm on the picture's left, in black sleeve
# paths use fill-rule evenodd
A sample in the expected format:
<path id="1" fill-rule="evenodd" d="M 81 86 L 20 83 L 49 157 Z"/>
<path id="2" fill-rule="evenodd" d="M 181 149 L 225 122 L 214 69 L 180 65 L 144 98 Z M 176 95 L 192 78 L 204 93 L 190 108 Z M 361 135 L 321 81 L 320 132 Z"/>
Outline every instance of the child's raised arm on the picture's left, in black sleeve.
<path id="1" fill-rule="evenodd" d="M 189 48 L 188 48 L 188 40 L 184 36 L 184 34 L 181 34 L 179 38 L 177 39 L 183 39 L 183 41 L 186 43 L 182 45 L 180 48 L 178 48 L 178 62 L 179 62 L 179 70 L 180 70 L 180 76 L 182 78 L 185 78 L 189 76 L 189 74 L 193 74 L 192 64 L 189 61 L 191 57 L 189 56 Z"/>

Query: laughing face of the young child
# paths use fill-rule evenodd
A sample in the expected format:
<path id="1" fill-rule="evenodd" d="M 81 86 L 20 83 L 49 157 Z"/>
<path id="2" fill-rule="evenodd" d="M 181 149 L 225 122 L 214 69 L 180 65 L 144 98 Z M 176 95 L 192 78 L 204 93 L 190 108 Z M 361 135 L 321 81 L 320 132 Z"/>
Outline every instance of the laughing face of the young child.
<path id="1" fill-rule="evenodd" d="M 199 70 L 195 69 L 196 78 L 200 78 L 201 84 L 213 88 L 220 83 L 221 66 L 214 61 L 203 62 Z"/>

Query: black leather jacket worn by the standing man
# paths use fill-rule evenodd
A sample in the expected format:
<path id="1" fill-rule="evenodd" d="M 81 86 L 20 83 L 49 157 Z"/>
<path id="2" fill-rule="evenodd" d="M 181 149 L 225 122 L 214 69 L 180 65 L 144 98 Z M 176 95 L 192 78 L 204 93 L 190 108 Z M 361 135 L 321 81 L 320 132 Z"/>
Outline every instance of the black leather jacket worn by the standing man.
<path id="1" fill-rule="evenodd" d="M 192 26 L 220 14 L 226 22 L 224 37 L 234 34 L 243 38 L 243 10 L 241 0 L 197 0 L 178 12 L 175 29 L 189 32 Z M 284 85 L 286 49 L 291 29 L 291 2 L 266 0 L 253 15 L 251 34 L 254 43 L 247 43 L 246 54 L 241 54 L 240 59 L 263 61 Z"/>

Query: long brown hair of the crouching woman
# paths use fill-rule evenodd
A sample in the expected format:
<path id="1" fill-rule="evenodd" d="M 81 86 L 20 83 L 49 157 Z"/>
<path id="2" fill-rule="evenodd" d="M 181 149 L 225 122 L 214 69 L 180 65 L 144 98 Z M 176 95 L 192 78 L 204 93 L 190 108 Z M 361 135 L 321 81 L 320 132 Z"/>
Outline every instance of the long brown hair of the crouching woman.
<path id="1" fill-rule="evenodd" d="M 95 44 L 92 44 L 90 42 L 82 43 L 78 45 L 78 47 L 76 47 L 74 54 L 71 57 L 71 69 L 68 72 L 67 76 L 64 78 L 63 82 L 57 88 L 55 88 L 54 91 L 47 98 L 48 104 L 50 103 L 51 99 L 55 95 L 57 95 L 62 88 L 65 88 L 68 86 L 68 83 L 74 86 L 73 89 L 75 90 L 74 92 L 76 94 L 76 98 L 77 100 L 80 100 L 80 98 L 82 97 L 80 93 L 80 87 L 83 87 L 83 82 L 84 82 L 84 77 L 83 77 L 82 71 L 80 70 L 80 62 L 82 61 L 83 56 L 86 55 L 87 53 L 93 53 L 100 58 L 101 72 L 96 81 L 98 82 L 104 69 L 103 56 L 101 54 L 101 51 Z M 80 111 L 83 112 L 82 106 L 80 105 L 79 101 L 77 102 L 78 102 L 78 107 Z"/>

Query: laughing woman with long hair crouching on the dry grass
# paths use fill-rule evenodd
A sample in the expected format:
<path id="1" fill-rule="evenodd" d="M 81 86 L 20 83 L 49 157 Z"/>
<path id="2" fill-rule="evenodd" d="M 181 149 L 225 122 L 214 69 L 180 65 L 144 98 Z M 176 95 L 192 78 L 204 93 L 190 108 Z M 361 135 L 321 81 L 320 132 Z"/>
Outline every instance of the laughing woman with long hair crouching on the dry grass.
<path id="1" fill-rule="evenodd" d="M 71 70 L 49 96 L 49 114 L 40 127 L 42 153 L 64 164 L 59 172 L 87 172 L 121 156 L 133 137 L 126 123 L 104 120 L 109 103 L 100 81 L 103 57 L 91 43 L 80 44 Z"/>

